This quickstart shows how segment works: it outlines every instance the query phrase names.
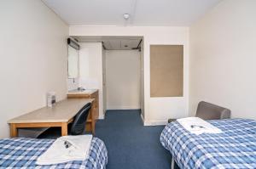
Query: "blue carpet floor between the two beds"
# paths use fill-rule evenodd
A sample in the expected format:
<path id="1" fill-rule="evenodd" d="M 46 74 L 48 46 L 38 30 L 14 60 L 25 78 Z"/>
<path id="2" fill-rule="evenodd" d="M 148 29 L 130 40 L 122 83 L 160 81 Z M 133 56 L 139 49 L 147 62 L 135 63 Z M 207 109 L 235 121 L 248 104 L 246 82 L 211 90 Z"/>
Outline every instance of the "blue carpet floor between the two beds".
<path id="1" fill-rule="evenodd" d="M 160 144 L 163 128 L 144 127 L 140 110 L 108 110 L 96 122 L 96 137 L 108 149 L 107 169 L 170 169 L 172 156 Z"/>

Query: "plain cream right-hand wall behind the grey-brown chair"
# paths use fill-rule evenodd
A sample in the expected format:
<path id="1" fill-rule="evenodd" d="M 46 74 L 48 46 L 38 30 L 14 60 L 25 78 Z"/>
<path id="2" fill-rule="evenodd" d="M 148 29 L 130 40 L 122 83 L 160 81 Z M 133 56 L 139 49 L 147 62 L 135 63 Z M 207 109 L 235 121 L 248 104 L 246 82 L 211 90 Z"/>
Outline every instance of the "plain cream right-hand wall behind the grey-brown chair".
<path id="1" fill-rule="evenodd" d="M 190 101 L 256 119 L 256 1 L 225 0 L 190 29 Z"/>

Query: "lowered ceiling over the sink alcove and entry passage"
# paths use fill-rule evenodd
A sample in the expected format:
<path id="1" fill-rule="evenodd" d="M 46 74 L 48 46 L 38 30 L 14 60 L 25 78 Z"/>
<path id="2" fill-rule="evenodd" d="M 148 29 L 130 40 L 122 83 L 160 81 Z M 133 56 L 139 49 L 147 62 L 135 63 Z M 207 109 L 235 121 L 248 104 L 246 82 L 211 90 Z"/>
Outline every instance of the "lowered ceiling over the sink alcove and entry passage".
<path id="1" fill-rule="evenodd" d="M 100 37 L 100 36 L 74 36 L 79 42 L 103 42 L 107 50 L 131 50 L 137 48 L 143 37 Z"/>

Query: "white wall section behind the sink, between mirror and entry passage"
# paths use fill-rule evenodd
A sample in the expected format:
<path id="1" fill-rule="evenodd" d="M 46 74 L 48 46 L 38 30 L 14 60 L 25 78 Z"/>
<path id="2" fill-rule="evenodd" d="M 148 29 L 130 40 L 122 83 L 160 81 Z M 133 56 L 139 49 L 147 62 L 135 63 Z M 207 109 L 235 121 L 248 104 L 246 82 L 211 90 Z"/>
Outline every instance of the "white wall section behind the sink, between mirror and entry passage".
<path id="1" fill-rule="evenodd" d="M 102 42 L 81 42 L 79 45 L 79 86 L 99 89 L 99 118 L 102 119 Z"/>

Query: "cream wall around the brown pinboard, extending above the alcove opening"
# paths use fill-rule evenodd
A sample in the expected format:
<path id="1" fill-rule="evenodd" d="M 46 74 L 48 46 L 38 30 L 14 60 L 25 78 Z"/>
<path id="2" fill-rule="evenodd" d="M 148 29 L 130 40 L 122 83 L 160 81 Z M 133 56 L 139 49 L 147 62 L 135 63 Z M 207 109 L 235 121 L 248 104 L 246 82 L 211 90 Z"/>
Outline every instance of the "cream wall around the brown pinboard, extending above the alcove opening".
<path id="1" fill-rule="evenodd" d="M 70 36 L 142 36 L 144 37 L 144 124 L 164 124 L 168 118 L 188 115 L 189 28 L 168 26 L 70 26 Z M 183 97 L 150 98 L 150 44 L 183 44 Z"/>

